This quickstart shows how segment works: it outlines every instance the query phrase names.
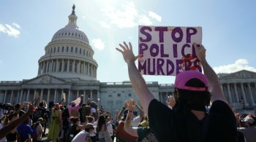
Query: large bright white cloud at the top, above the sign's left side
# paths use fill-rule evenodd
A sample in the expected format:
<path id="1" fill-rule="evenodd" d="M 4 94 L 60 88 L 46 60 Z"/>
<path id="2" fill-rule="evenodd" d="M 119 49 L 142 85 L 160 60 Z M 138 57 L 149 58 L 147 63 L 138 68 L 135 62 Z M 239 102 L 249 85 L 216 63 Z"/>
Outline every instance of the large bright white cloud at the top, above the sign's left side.
<path id="1" fill-rule="evenodd" d="M 105 23 L 108 25 L 116 25 L 118 28 L 132 28 L 136 25 L 151 25 L 154 20 L 161 21 L 162 17 L 154 12 L 145 12 L 143 9 L 135 7 L 133 1 L 121 4 L 120 8 L 117 9 L 112 5 L 105 5 L 102 9 L 105 14 Z M 102 24 L 102 22 L 101 22 Z M 102 24 L 104 27 L 105 25 Z"/>

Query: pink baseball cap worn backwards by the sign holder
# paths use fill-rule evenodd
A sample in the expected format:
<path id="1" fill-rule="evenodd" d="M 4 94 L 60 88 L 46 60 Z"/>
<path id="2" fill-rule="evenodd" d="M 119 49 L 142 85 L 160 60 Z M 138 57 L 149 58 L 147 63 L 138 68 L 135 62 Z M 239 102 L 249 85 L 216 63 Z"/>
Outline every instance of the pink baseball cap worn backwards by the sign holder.
<path id="1" fill-rule="evenodd" d="M 190 79 L 199 79 L 203 82 L 206 87 L 190 87 L 186 86 L 186 83 Z M 184 71 L 179 73 L 176 76 L 174 87 L 181 89 L 181 90 L 192 90 L 192 91 L 207 91 L 208 90 L 208 80 L 206 76 L 200 73 L 200 71 Z"/>

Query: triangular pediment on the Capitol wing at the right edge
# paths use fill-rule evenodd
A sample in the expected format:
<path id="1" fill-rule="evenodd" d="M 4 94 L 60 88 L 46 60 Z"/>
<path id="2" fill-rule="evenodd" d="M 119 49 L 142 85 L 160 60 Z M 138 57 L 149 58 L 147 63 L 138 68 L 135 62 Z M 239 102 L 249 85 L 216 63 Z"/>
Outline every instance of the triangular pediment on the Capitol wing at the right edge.
<path id="1" fill-rule="evenodd" d="M 228 74 L 227 76 L 221 77 L 221 79 L 252 79 L 252 78 L 256 79 L 256 73 L 253 71 L 246 71 L 246 70 L 237 71 L 235 73 Z"/>

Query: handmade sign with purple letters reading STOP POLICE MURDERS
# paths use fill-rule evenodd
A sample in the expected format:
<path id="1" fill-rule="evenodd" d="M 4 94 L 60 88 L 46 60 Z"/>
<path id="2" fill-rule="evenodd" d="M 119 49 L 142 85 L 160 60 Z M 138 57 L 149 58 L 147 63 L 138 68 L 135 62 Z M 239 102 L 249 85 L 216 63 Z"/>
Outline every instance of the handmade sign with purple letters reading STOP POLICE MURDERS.
<path id="1" fill-rule="evenodd" d="M 140 74 L 175 76 L 179 72 L 202 72 L 192 44 L 200 47 L 201 27 L 139 26 Z"/>

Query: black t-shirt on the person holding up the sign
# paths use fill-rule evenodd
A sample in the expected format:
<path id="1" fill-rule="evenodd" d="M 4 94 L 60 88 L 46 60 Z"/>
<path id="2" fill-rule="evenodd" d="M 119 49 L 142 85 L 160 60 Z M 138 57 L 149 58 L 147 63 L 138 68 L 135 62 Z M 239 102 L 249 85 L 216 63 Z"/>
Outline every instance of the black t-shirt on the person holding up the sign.
<path id="1" fill-rule="evenodd" d="M 197 127 L 195 132 L 202 131 L 202 122 L 197 120 L 195 115 L 184 113 L 181 103 L 176 106 L 178 108 L 171 110 L 158 100 L 151 100 L 148 106 L 149 126 L 158 141 L 190 141 L 187 118 L 192 119 L 189 122 L 193 122 L 192 125 Z M 209 117 L 206 141 L 237 141 L 236 117 L 227 103 L 222 100 L 214 101 Z"/>

